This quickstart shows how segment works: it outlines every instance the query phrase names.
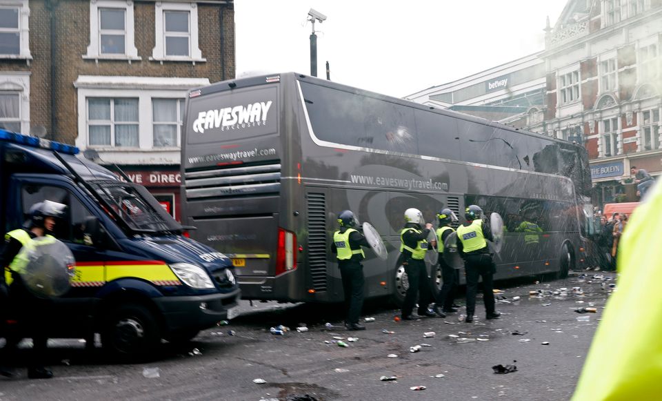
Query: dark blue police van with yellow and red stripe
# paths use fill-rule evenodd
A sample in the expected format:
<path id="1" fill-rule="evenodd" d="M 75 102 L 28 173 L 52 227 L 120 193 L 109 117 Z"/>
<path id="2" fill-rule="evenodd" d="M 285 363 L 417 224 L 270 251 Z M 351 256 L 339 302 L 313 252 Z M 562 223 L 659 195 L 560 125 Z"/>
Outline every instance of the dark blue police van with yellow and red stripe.
<path id="1" fill-rule="evenodd" d="M 104 348 L 130 359 L 237 315 L 230 259 L 189 239 L 146 188 L 78 153 L 0 130 L 3 231 L 21 227 L 37 202 L 68 206 L 52 235 L 70 248 L 76 267 L 44 322 L 48 338 L 90 341 L 99 333 Z"/>

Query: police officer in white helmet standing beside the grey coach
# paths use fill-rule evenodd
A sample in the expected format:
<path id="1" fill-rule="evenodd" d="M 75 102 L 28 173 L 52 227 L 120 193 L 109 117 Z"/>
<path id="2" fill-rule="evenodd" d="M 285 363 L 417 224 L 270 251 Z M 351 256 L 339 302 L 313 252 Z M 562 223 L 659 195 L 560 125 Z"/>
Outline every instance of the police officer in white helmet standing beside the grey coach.
<path id="1" fill-rule="evenodd" d="M 421 225 L 425 225 L 422 228 Z M 425 267 L 425 252 L 428 251 L 428 234 L 432 224 L 425 224 L 423 213 L 416 208 L 408 208 L 405 211 L 405 226 L 400 232 L 400 258 L 399 263 L 405 267 L 409 288 L 405 294 L 402 304 L 402 320 L 414 320 L 419 316 L 434 317 L 435 314 L 428 310 L 432 302 L 432 290 L 428 268 Z M 417 294 L 419 295 L 419 316 L 412 315 Z"/>

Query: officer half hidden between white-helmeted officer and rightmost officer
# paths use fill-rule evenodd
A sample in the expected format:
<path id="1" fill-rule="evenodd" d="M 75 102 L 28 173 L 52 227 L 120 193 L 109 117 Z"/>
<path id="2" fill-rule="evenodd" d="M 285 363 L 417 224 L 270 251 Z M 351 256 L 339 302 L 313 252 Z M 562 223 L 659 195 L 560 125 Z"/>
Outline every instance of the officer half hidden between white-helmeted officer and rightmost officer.
<path id="1" fill-rule="evenodd" d="M 437 249 L 439 250 L 439 268 L 441 268 L 441 280 L 443 280 L 443 284 L 437 294 L 437 302 L 433 310 L 437 315 L 445 317 L 445 313 L 457 312 L 457 309 L 453 307 L 453 301 L 460 282 L 460 271 L 458 268 L 448 266 L 445 260 L 443 260 L 443 244 L 448 235 L 454 232 L 450 225 L 457 222 L 457 216 L 452 210 L 445 208 L 437 214 L 437 219 L 439 219 Z"/>

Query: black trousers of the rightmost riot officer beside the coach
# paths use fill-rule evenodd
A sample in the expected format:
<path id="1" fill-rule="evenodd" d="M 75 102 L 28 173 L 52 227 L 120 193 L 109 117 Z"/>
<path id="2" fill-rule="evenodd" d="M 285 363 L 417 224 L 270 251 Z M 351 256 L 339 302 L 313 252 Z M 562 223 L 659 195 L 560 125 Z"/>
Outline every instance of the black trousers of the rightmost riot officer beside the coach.
<path id="1" fill-rule="evenodd" d="M 465 270 L 467 273 L 467 316 L 473 316 L 476 311 L 476 293 L 478 279 L 483 277 L 483 304 L 485 313 L 494 313 L 494 284 L 492 275 L 496 271 L 492 256 L 487 253 L 467 255 L 465 257 Z"/>

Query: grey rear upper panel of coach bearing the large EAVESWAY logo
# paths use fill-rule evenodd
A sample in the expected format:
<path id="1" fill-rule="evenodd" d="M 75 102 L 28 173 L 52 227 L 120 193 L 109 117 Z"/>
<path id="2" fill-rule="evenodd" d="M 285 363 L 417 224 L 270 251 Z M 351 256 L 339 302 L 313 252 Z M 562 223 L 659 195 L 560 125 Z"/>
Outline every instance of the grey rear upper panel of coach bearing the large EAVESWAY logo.
<path id="1" fill-rule="evenodd" d="M 278 88 L 261 86 L 188 101 L 186 143 L 236 141 L 277 133 Z"/>

